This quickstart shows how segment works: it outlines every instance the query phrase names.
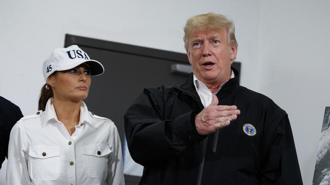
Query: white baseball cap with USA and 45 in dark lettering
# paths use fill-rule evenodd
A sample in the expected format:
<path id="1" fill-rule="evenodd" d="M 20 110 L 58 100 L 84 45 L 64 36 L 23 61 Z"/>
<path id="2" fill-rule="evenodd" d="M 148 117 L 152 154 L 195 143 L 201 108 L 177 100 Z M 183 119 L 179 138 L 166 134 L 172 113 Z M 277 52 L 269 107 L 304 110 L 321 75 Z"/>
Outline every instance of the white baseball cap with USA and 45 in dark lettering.
<path id="1" fill-rule="evenodd" d="M 64 71 L 86 63 L 90 67 L 90 75 L 96 76 L 104 73 L 103 65 L 96 61 L 90 60 L 87 53 L 78 47 L 78 45 L 71 45 L 68 48 L 55 49 L 48 59 L 43 64 L 43 74 L 45 80 L 49 75 L 55 71 Z"/>

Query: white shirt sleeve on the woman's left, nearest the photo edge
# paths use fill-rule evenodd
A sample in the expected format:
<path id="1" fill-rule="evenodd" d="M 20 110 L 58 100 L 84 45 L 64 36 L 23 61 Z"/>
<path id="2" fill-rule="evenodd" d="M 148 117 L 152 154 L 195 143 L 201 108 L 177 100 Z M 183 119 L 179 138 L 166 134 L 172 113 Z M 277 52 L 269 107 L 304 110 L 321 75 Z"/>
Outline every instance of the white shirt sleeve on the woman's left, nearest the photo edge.
<path id="1" fill-rule="evenodd" d="M 24 128 L 16 123 L 10 132 L 6 181 L 12 184 L 31 184 L 27 169 L 27 143 Z"/>

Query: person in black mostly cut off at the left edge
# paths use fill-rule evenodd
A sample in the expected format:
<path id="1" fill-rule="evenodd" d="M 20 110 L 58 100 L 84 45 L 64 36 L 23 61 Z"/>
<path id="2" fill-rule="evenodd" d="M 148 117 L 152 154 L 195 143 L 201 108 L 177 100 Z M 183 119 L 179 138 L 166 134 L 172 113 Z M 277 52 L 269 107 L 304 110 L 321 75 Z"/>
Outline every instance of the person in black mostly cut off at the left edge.
<path id="1" fill-rule="evenodd" d="M 0 164 L 5 161 L 6 157 L 8 158 L 10 130 L 21 117 L 23 115 L 19 107 L 0 96 Z"/>

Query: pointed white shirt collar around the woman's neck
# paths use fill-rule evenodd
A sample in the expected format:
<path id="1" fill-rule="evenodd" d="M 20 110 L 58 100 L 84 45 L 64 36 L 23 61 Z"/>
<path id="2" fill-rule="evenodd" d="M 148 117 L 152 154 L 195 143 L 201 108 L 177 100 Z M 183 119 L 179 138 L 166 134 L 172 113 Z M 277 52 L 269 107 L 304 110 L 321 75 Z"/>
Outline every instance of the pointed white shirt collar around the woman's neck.
<path id="1" fill-rule="evenodd" d="M 93 118 L 89 114 L 86 104 L 83 101 L 81 101 L 81 103 L 82 104 L 80 106 L 80 119 L 79 119 L 78 125 L 85 122 L 85 123 L 88 123 L 91 126 L 95 127 Z M 43 127 L 47 126 L 47 124 L 49 124 L 49 123 L 59 122 L 57 119 L 57 116 L 56 116 L 55 109 L 54 109 L 53 98 L 50 98 L 47 101 L 46 108 L 45 108 L 45 111 L 43 112 L 42 116 L 43 117 L 41 118 L 42 119 L 41 124 Z"/>

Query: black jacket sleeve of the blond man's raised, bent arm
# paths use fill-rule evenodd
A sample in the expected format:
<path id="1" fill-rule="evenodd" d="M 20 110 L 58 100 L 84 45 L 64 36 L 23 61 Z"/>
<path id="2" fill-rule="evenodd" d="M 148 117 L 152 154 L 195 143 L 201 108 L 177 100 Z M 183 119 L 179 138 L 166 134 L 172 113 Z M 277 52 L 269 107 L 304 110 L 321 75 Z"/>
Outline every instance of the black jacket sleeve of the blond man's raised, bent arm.
<path id="1" fill-rule="evenodd" d="M 194 127 L 196 112 L 164 119 L 164 112 L 173 105 L 160 90 L 151 90 L 145 89 L 124 116 L 129 153 L 143 166 L 176 157 L 205 138 Z"/>

